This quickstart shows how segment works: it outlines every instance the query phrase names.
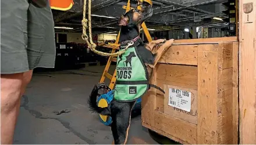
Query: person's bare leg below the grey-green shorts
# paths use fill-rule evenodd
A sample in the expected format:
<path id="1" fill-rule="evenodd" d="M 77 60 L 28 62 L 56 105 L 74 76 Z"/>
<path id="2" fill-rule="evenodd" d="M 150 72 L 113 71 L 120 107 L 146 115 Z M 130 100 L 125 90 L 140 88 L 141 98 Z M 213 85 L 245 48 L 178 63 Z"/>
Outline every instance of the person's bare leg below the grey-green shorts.
<path id="1" fill-rule="evenodd" d="M 1 75 L 1 144 L 12 144 L 23 73 Z"/>

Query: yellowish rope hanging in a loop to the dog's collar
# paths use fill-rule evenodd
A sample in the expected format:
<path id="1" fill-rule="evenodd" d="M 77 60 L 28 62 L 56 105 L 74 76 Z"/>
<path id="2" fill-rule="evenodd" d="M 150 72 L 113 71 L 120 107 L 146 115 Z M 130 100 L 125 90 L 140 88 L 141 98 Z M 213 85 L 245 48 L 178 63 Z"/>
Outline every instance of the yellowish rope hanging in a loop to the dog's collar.
<path id="1" fill-rule="evenodd" d="M 98 55 L 101 55 L 101 56 L 122 55 L 129 48 L 129 46 L 133 45 L 133 41 L 131 41 L 130 44 L 127 45 L 125 49 L 120 50 L 119 52 L 116 52 L 116 53 L 105 53 L 105 52 L 100 52 L 95 49 L 97 47 L 97 45 L 94 44 L 93 38 L 91 37 L 91 34 L 92 34 L 91 33 L 91 0 L 88 0 L 88 20 L 86 19 L 86 3 L 87 3 L 87 0 L 84 0 L 83 20 L 82 20 L 83 34 L 81 37 L 83 38 L 84 41 L 86 41 L 88 48 L 90 48 L 94 53 L 97 53 Z M 89 23 L 89 37 L 86 34 L 86 29 L 88 28 L 87 22 Z M 88 38 L 89 38 L 89 40 L 88 40 Z"/>

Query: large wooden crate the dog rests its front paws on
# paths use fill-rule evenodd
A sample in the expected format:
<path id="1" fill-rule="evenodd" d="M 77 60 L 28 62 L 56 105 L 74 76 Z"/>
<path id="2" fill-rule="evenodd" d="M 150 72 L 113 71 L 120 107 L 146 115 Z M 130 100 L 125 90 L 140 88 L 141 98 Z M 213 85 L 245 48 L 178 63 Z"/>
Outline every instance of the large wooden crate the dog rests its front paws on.
<path id="1" fill-rule="evenodd" d="M 175 44 L 159 60 L 151 78 L 165 95 L 152 88 L 142 99 L 143 126 L 183 144 L 237 144 L 236 37 Z M 168 105 L 170 88 L 191 92 L 180 102 L 182 108 Z"/>

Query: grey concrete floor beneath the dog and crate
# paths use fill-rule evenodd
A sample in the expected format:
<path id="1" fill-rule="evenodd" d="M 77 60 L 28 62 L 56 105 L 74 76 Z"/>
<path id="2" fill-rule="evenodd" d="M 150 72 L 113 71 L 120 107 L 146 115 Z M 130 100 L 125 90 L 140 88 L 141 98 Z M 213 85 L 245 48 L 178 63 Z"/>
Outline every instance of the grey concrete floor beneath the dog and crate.
<path id="1" fill-rule="evenodd" d="M 34 73 L 22 99 L 14 144 L 111 144 L 111 128 L 88 111 L 87 98 L 104 66 Z M 113 71 L 113 67 L 112 67 Z M 69 113 L 56 115 L 58 110 Z M 128 144 L 158 144 L 131 120 Z"/>

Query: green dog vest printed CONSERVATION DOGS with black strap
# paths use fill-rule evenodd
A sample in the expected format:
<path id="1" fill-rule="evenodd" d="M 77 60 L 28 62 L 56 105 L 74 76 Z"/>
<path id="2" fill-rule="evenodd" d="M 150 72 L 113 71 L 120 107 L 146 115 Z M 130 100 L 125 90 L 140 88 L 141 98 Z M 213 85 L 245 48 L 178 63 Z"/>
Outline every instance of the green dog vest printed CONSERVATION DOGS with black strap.
<path id="1" fill-rule="evenodd" d="M 119 102 L 132 102 L 139 97 L 143 96 L 150 86 L 161 90 L 158 86 L 149 84 L 147 68 L 140 56 L 137 55 L 138 46 L 137 41 L 141 41 L 140 39 L 136 40 L 130 48 L 128 48 L 125 53 L 118 56 L 116 61 L 116 86 L 115 86 L 115 94 L 114 99 Z M 122 48 L 122 44 L 120 45 L 120 50 Z"/>

